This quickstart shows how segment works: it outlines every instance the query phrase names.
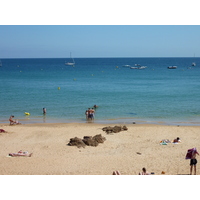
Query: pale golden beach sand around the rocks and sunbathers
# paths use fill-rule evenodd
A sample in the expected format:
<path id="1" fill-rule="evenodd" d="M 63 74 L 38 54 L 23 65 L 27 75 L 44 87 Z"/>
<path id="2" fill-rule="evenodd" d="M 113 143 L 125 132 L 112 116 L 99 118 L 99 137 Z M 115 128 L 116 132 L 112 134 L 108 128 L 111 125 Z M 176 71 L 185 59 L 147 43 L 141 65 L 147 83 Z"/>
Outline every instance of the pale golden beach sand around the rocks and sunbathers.
<path id="1" fill-rule="evenodd" d="M 116 124 L 120 125 L 120 124 Z M 127 131 L 106 134 L 102 128 L 109 124 L 25 124 L 0 125 L 1 175 L 137 175 L 143 167 L 155 175 L 189 174 L 187 149 L 200 151 L 199 126 L 167 126 L 127 124 Z M 114 124 L 110 124 L 114 126 Z M 68 146 L 70 138 L 95 136 L 106 138 L 97 147 Z M 160 145 L 162 139 L 180 144 Z M 8 157 L 19 150 L 33 153 L 32 157 Z M 197 156 L 198 160 L 198 156 Z M 197 164 L 200 174 L 200 164 Z"/>

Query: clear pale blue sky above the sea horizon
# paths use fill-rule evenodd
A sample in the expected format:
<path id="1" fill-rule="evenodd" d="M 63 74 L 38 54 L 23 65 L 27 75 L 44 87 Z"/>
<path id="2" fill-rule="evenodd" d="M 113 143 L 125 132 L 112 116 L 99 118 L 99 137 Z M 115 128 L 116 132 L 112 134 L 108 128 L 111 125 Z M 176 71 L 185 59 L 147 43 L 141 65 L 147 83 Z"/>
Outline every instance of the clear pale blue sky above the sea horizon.
<path id="1" fill-rule="evenodd" d="M 0 58 L 200 57 L 200 26 L 0 26 Z"/>

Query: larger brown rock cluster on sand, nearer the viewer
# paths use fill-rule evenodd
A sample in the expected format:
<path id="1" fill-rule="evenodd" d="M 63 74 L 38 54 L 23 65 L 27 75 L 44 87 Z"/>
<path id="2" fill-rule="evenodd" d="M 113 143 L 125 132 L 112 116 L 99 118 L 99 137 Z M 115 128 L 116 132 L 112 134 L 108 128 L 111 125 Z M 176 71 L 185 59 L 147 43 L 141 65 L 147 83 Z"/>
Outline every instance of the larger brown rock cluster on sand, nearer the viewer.
<path id="1" fill-rule="evenodd" d="M 95 135 L 94 137 L 84 136 L 83 139 L 75 137 L 70 139 L 68 145 L 77 146 L 78 148 L 85 147 L 86 145 L 96 147 L 99 143 L 103 143 L 105 140 L 106 138 L 103 137 L 101 134 Z"/>

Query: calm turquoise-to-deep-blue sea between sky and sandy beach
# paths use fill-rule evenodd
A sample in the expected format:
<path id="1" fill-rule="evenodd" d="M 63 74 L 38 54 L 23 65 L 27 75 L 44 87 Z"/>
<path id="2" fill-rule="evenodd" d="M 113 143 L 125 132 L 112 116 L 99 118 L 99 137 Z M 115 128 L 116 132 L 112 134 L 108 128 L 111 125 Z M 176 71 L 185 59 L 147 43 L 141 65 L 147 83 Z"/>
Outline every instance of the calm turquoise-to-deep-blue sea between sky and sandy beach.
<path id="1" fill-rule="evenodd" d="M 22 123 L 85 122 L 94 104 L 99 123 L 200 123 L 200 58 L 75 58 L 75 67 L 65 58 L 1 61 L 1 123 L 11 114 Z M 147 68 L 122 67 L 135 64 Z"/>

